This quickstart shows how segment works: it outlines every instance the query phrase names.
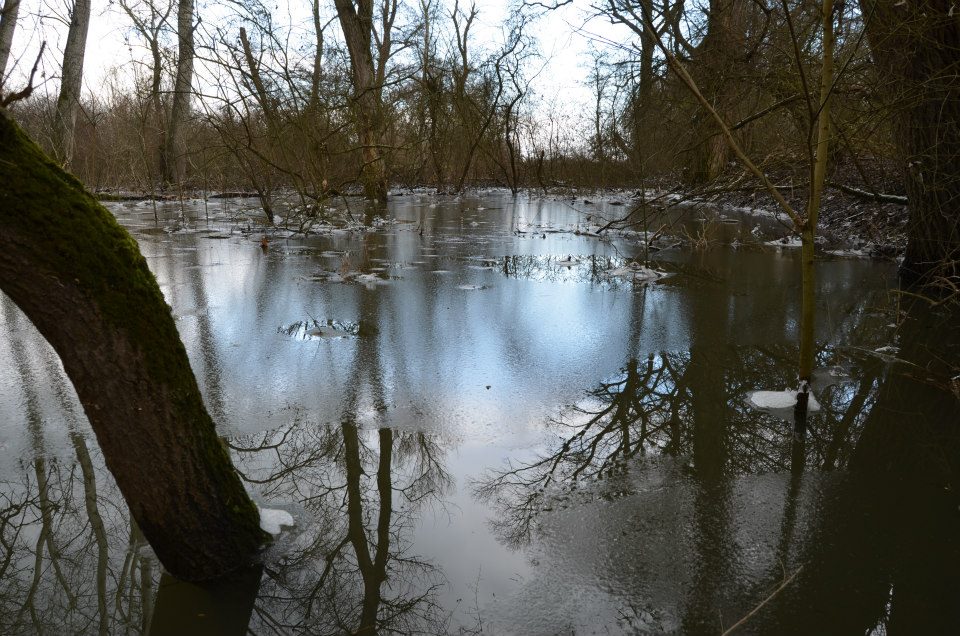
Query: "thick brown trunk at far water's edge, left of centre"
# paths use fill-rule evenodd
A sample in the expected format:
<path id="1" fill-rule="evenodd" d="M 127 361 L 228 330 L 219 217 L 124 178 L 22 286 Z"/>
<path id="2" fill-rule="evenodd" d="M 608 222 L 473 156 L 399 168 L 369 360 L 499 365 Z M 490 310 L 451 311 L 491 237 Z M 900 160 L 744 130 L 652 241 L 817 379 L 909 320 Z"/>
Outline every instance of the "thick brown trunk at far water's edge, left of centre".
<path id="1" fill-rule="evenodd" d="M 381 91 L 383 80 L 378 77 L 371 44 L 373 40 L 373 0 L 335 0 L 337 17 L 343 30 L 343 39 L 350 54 L 353 80 L 354 113 L 362 148 L 361 179 L 368 199 L 387 200 L 387 171 L 380 153 L 382 127 Z M 386 33 L 383 34 L 387 38 Z"/>

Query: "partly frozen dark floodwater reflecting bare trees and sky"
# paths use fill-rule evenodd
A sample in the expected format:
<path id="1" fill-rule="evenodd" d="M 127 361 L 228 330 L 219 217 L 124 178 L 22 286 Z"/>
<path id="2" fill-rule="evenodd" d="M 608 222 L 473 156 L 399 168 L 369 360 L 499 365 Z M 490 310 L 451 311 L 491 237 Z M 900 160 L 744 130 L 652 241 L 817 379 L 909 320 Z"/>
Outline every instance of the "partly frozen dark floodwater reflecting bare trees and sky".
<path id="1" fill-rule="evenodd" d="M 960 332 L 898 305 L 892 265 L 820 263 L 795 435 L 749 403 L 794 384 L 797 254 L 749 244 L 768 219 L 690 220 L 708 249 L 643 283 L 606 275 L 641 250 L 583 233 L 598 206 L 397 197 L 264 251 L 243 205 L 113 210 L 296 526 L 222 586 L 162 576 L 2 298 L 0 633 L 960 632 Z"/>

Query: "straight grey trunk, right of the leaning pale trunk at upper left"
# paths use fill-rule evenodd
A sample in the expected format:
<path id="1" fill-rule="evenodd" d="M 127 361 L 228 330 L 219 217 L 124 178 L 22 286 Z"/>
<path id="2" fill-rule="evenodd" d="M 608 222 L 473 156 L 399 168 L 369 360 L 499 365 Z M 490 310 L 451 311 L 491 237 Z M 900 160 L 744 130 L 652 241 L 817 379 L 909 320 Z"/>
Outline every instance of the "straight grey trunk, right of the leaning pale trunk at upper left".
<path id="1" fill-rule="evenodd" d="M 180 184 L 186 175 L 187 145 L 184 133 L 190 114 L 193 84 L 193 0 L 180 0 L 177 5 L 177 77 L 173 86 L 173 107 L 167 131 L 167 183 Z"/>

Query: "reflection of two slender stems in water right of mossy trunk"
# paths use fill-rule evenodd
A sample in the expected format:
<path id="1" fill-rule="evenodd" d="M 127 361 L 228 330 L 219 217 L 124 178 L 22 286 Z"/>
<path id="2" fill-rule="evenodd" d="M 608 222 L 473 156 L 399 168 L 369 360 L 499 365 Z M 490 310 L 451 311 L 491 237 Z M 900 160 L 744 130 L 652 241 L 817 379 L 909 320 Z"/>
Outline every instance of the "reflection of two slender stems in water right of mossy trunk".
<path id="1" fill-rule="evenodd" d="M 410 552 L 418 512 L 450 487 L 442 449 L 423 432 L 372 433 L 296 423 L 235 445 L 245 479 L 310 520 L 266 568 L 254 631 L 445 633 L 443 577 Z"/>

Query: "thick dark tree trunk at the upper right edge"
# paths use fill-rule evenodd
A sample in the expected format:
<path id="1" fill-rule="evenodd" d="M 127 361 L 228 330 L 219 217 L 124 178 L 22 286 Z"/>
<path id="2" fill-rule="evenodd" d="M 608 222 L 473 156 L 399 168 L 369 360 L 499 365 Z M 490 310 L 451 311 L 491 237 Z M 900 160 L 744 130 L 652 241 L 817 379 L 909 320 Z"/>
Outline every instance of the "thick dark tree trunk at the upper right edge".
<path id="1" fill-rule="evenodd" d="M 907 284 L 960 276 L 960 18 L 952 0 L 860 0 L 909 206 Z"/>

